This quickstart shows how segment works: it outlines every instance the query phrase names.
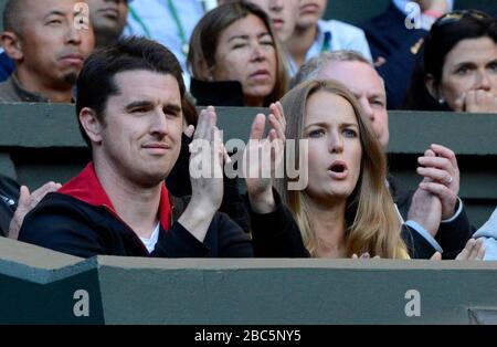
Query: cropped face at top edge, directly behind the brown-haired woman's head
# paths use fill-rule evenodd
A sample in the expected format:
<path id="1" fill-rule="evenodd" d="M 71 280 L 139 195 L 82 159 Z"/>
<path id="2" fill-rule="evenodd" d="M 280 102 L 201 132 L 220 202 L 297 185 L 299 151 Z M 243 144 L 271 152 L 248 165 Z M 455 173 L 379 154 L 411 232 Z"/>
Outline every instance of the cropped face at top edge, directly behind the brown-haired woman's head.
<path id="1" fill-rule="evenodd" d="M 219 4 L 240 0 L 220 0 Z M 245 0 L 257 4 L 273 22 L 273 28 L 282 42 L 286 42 L 294 33 L 298 19 L 300 0 Z"/>

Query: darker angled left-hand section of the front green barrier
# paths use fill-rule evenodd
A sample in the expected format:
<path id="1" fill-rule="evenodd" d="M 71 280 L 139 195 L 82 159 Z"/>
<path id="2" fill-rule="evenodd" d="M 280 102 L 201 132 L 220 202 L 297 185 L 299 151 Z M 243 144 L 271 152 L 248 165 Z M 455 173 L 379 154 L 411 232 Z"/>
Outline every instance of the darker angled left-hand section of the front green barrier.
<path id="1" fill-rule="evenodd" d="M 82 293 L 89 297 L 89 316 L 83 315 Z M 0 324 L 103 323 L 95 259 L 0 238 Z"/>

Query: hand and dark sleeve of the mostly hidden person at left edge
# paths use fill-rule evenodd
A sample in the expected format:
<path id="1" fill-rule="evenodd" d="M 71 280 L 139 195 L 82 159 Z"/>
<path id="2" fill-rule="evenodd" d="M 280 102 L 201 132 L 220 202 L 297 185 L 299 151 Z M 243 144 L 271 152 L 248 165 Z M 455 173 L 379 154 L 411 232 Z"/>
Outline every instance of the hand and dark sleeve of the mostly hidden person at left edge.
<path id="1" fill-rule="evenodd" d="M 0 175 L 0 236 L 18 239 L 25 214 L 46 193 L 59 188 L 61 185 L 49 182 L 30 193 L 28 187 L 20 187 L 13 179 Z"/>

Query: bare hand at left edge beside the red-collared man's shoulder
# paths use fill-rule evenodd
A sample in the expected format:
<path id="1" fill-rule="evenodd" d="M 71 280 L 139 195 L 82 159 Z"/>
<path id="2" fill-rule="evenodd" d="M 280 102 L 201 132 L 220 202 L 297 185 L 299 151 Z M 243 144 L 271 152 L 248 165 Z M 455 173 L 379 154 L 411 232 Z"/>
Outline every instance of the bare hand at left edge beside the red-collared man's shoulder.
<path id="1" fill-rule="evenodd" d="M 19 230 L 21 230 L 22 222 L 24 221 L 24 217 L 28 212 L 30 212 L 49 192 L 56 191 L 61 187 L 62 186 L 60 183 L 47 182 L 30 193 L 28 187 L 22 186 L 19 196 L 18 209 L 10 221 L 9 239 L 18 240 Z"/>

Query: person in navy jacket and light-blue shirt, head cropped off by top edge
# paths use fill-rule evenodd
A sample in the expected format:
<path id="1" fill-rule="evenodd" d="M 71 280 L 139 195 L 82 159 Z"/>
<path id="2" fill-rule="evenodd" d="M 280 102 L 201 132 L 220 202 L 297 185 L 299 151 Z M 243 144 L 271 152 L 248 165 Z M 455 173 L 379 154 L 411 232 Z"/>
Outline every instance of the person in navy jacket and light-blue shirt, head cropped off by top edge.
<path id="1" fill-rule="evenodd" d="M 360 25 L 385 83 L 389 109 L 403 105 L 423 39 L 433 22 L 452 8 L 453 0 L 392 0 L 383 13 Z"/>

